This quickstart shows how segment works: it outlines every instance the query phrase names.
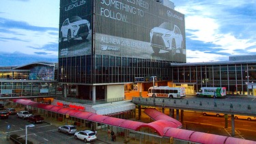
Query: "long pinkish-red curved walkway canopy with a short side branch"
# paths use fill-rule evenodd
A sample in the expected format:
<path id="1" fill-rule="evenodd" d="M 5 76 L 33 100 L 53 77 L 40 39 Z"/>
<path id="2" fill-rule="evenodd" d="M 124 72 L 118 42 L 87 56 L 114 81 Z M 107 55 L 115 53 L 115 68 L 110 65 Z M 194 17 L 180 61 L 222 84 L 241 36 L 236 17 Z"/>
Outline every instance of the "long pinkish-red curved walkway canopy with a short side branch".
<path id="1" fill-rule="evenodd" d="M 52 111 L 55 113 L 61 114 L 69 114 L 72 117 L 77 117 L 79 119 L 86 119 L 88 121 L 95 121 L 101 124 L 107 124 L 111 126 L 116 126 L 119 128 L 125 128 L 128 130 L 139 131 L 141 128 L 152 128 L 159 136 L 172 137 L 175 139 L 180 139 L 183 141 L 191 141 L 195 143 L 214 143 L 214 144 L 222 144 L 222 143 L 248 143 L 248 144 L 256 144 L 256 141 L 249 141 L 245 139 L 238 139 L 229 136 L 221 136 L 217 134 L 208 134 L 204 132 L 195 132 L 192 130 L 183 130 L 180 129 L 181 123 L 177 122 L 176 119 L 172 117 L 165 117 L 163 113 L 160 113 L 156 109 L 145 109 L 145 113 L 155 119 L 151 123 L 143 123 L 140 121 L 131 121 L 128 119 L 118 119 L 115 117 L 109 117 L 106 115 L 97 115 L 96 113 L 90 113 L 86 111 L 79 111 L 75 109 L 71 109 L 68 107 L 61 106 L 53 106 L 51 104 L 35 104 L 35 102 L 31 100 L 25 99 L 15 99 L 14 102 L 18 104 L 35 106 L 40 109 L 45 109 L 47 111 Z M 162 119 L 164 118 L 164 119 Z"/>

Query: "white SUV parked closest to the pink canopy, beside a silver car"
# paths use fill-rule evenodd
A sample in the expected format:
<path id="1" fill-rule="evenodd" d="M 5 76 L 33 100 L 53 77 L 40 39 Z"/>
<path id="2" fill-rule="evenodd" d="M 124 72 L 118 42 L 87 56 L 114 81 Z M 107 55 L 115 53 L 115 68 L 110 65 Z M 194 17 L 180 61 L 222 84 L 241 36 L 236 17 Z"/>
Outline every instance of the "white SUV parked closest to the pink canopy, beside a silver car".
<path id="1" fill-rule="evenodd" d="M 91 130 L 82 130 L 74 134 L 74 139 L 80 139 L 82 141 L 85 141 L 85 143 L 87 143 L 88 141 L 94 141 L 95 139 L 97 139 L 97 136 L 95 132 Z"/>

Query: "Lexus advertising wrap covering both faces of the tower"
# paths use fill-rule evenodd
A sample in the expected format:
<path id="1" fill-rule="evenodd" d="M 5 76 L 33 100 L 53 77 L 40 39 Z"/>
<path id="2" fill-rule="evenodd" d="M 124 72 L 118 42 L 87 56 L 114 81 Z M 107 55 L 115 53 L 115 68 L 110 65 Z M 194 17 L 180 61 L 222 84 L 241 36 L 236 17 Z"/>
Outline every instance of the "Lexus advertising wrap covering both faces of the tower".
<path id="1" fill-rule="evenodd" d="M 186 62 L 184 14 L 152 0 L 61 1 L 59 57 L 91 52 Z"/>

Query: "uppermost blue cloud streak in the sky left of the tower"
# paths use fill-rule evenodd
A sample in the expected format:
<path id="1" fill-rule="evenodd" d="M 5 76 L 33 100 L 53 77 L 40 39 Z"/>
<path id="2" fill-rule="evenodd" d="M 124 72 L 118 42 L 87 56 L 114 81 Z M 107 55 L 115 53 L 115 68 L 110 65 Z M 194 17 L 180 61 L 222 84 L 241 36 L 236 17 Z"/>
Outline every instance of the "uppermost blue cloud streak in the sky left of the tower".
<path id="1" fill-rule="evenodd" d="M 16 20 L 10 20 L 7 18 L 1 18 L 0 17 L 0 27 L 3 29 L 24 29 L 27 31 L 58 31 L 59 29 L 56 27 L 38 27 L 29 25 L 26 22 L 23 21 L 16 21 Z"/>

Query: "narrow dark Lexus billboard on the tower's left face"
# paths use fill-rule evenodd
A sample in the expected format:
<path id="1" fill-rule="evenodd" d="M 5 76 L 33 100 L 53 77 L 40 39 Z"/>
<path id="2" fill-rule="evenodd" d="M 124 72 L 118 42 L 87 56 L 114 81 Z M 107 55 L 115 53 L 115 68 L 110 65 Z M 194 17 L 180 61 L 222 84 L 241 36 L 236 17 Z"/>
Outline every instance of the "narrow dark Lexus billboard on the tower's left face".
<path id="1" fill-rule="evenodd" d="M 61 0 L 59 58 L 91 54 L 91 0 Z"/>

